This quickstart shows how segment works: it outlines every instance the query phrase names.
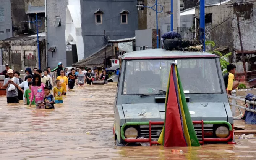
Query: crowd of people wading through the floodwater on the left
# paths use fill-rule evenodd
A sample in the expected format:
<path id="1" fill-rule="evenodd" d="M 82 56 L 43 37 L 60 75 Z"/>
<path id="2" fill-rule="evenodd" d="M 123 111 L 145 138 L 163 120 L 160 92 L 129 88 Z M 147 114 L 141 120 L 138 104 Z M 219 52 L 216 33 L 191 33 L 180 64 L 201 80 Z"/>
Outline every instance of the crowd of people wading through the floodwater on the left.
<path id="1" fill-rule="evenodd" d="M 6 88 L 7 103 L 19 103 L 19 100 L 23 100 L 24 105 L 36 105 L 37 109 L 53 109 L 55 103 L 63 103 L 67 85 L 69 90 L 73 90 L 75 84 L 83 87 L 86 83 L 91 85 L 94 80 L 104 80 L 107 83 L 108 79 L 106 72 L 99 74 L 97 68 L 94 68 L 93 73 L 91 68 L 72 68 L 69 72 L 59 62 L 53 70 L 50 67 L 44 71 L 34 68 L 32 72 L 31 68 L 26 68 L 23 81 L 18 71 L 14 72 L 8 64 L 5 67 L 6 70 L 0 74 L 5 76 L 3 88 Z M 54 71 L 56 80 L 52 73 Z M 52 89 L 53 95 L 50 93 Z"/>

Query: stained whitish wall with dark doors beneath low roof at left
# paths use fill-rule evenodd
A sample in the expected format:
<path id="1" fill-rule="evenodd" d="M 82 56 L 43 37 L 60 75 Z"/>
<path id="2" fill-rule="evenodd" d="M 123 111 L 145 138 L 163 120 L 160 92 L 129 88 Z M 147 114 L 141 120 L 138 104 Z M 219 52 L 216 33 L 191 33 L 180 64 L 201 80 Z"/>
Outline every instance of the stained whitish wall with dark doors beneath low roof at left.
<path id="1" fill-rule="evenodd" d="M 5 41 L 0 43 L 4 49 L 3 60 L 9 63 L 14 70 L 25 70 L 27 67 L 38 68 L 38 52 L 36 41 Z M 39 41 L 41 53 L 41 69 L 45 66 L 45 40 Z"/>

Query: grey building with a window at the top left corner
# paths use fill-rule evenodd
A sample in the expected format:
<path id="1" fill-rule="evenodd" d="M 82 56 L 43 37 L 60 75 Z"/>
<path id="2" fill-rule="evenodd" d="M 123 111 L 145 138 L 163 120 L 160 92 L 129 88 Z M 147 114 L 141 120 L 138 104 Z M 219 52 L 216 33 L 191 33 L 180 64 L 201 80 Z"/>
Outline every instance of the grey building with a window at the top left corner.
<path id="1" fill-rule="evenodd" d="M 0 3 L 0 40 L 12 37 L 11 0 Z"/>

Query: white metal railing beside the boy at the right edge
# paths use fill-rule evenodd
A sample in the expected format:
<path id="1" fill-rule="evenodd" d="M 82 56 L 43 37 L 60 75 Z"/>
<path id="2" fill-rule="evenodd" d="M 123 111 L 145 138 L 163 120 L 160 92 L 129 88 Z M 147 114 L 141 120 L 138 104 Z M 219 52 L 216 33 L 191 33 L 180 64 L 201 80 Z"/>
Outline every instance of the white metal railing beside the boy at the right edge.
<path id="1" fill-rule="evenodd" d="M 237 92 L 235 90 L 232 90 L 231 94 L 232 95 L 229 95 L 228 98 L 230 98 L 232 100 L 231 103 L 229 103 L 229 105 L 232 106 L 231 111 L 232 111 L 232 115 L 233 115 L 234 119 L 237 119 L 238 117 L 243 116 L 243 112 L 241 111 L 241 109 L 256 113 L 255 109 L 250 109 L 250 108 L 247 108 L 244 106 L 237 105 L 237 100 L 242 101 L 247 104 L 252 104 L 252 105 L 256 105 L 256 101 L 248 101 L 248 100 L 245 100 L 244 98 L 237 96 Z M 244 96 L 242 96 L 242 97 L 244 97 Z M 239 116 L 236 116 L 236 108 L 238 108 L 238 110 L 240 112 Z"/>

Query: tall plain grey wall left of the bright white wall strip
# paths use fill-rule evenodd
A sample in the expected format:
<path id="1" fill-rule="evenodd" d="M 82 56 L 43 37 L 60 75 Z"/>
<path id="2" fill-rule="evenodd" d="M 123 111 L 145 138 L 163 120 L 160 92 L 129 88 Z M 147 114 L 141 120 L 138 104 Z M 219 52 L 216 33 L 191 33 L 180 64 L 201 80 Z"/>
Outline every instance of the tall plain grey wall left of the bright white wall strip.
<path id="1" fill-rule="evenodd" d="M 55 68 L 58 62 L 66 66 L 65 19 L 68 0 L 47 0 L 47 48 L 56 46 L 56 52 L 47 51 L 48 67 Z M 54 27 L 55 17 L 60 16 L 61 26 Z"/>

